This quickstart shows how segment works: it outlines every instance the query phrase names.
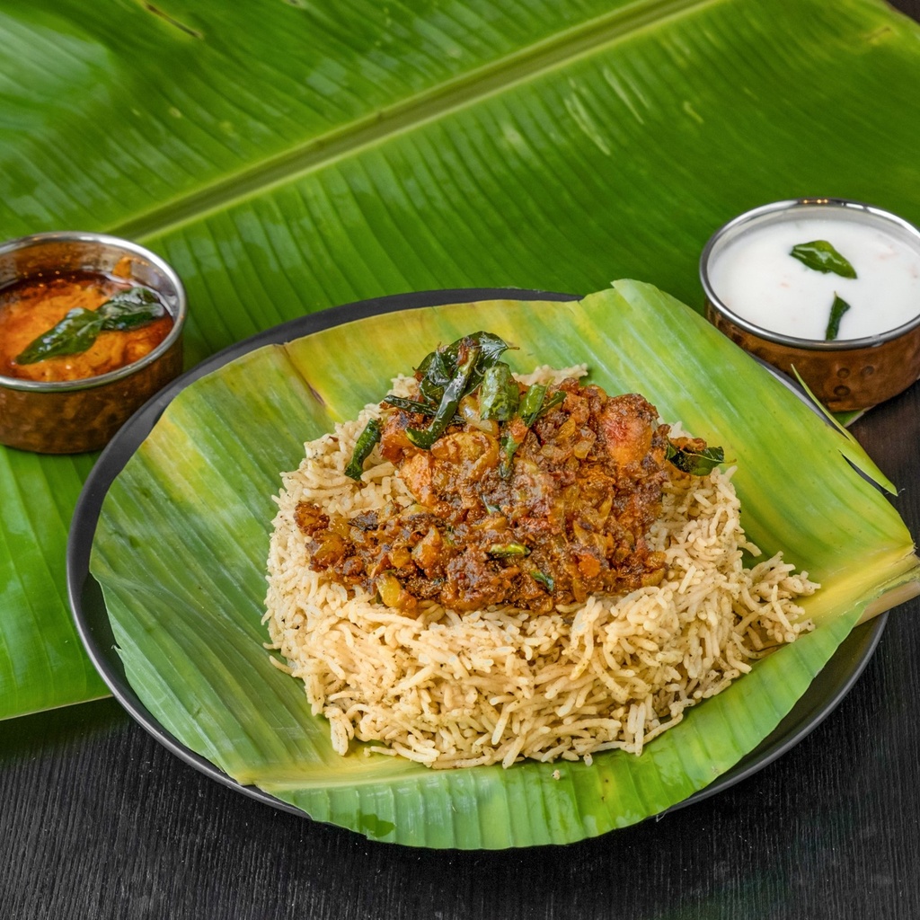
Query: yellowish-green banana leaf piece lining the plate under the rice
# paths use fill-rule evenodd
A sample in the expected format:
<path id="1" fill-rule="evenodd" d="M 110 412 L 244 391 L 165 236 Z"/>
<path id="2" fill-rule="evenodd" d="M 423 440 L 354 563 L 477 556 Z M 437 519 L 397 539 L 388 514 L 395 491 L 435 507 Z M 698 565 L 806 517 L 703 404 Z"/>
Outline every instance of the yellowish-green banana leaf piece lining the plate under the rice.
<path id="1" fill-rule="evenodd" d="M 822 583 L 816 629 L 636 757 L 431 770 L 333 753 L 302 684 L 264 649 L 265 560 L 282 470 L 379 400 L 438 342 L 485 328 L 515 369 L 586 361 L 609 392 L 724 446 L 747 533 Z M 385 347 L 382 347 L 385 345 Z M 348 355 L 348 362 L 342 361 Z M 372 316 L 250 351 L 167 406 L 112 482 L 89 568 L 127 681 L 190 751 L 320 821 L 407 845 L 562 844 L 683 801 L 776 728 L 850 629 L 920 590 L 911 535 L 862 450 L 696 313 L 641 282 L 574 302 L 479 302 Z M 177 560 L 181 564 L 177 565 Z"/>

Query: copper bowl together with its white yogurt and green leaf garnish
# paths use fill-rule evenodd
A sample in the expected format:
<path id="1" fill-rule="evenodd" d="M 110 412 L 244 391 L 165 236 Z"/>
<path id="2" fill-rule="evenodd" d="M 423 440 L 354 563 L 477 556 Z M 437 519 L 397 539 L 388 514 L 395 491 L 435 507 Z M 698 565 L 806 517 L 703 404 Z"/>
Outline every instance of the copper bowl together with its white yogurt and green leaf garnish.
<path id="1" fill-rule="evenodd" d="M 767 204 L 709 239 L 700 278 L 709 321 L 828 408 L 869 408 L 920 378 L 920 231 L 895 214 Z"/>

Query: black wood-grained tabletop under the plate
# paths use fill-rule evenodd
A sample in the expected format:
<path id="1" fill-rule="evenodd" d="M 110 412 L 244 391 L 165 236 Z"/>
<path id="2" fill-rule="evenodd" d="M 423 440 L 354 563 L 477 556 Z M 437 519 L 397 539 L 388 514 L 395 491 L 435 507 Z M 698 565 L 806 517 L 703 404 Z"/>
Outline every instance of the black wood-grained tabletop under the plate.
<path id="1" fill-rule="evenodd" d="M 920 385 L 853 431 L 920 534 Z M 566 847 L 370 843 L 201 776 L 111 699 L 12 719 L 0 918 L 918 917 L 918 616 L 898 608 L 842 705 L 755 776 Z"/>

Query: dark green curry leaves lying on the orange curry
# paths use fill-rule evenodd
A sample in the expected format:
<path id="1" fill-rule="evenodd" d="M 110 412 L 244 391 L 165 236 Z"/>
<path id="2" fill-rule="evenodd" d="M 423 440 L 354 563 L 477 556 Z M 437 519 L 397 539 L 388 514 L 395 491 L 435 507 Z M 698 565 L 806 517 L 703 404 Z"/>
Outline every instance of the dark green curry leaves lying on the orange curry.
<path id="1" fill-rule="evenodd" d="M 96 310 L 78 306 L 21 351 L 17 364 L 79 354 L 91 348 L 100 332 L 139 328 L 166 316 L 166 307 L 149 288 L 133 287 L 115 294 Z"/>

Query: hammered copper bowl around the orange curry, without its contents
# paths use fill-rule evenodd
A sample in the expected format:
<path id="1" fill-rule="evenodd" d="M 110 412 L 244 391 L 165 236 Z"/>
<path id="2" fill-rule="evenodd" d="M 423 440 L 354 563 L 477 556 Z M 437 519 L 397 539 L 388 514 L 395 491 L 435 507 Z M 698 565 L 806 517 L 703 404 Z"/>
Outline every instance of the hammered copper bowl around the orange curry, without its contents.
<path id="1" fill-rule="evenodd" d="M 167 338 L 138 361 L 83 380 L 48 382 L 0 375 L 0 443 L 39 454 L 98 450 L 181 372 L 185 291 L 163 259 L 135 243 L 76 232 L 9 240 L 0 245 L 0 287 L 54 271 L 109 274 L 116 265 L 127 280 L 160 295 L 173 321 Z"/>

